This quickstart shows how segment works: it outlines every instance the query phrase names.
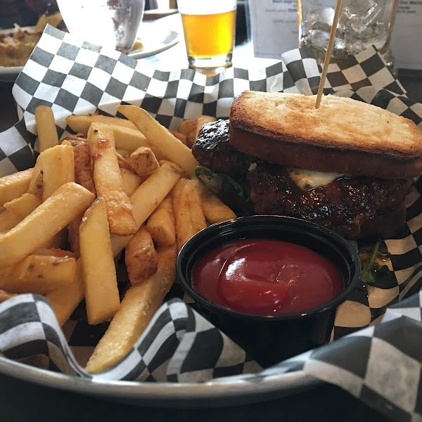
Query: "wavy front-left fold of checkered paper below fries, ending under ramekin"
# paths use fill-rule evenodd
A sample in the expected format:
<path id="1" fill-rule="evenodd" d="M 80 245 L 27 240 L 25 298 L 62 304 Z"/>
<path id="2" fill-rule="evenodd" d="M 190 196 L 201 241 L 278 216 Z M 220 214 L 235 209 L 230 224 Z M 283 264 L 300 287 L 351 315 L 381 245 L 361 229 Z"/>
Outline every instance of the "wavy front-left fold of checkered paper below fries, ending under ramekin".
<path id="1" fill-rule="evenodd" d="M 18 295 L 0 305 L 0 355 L 101 380 L 203 382 L 262 368 L 226 335 L 179 299 L 155 313 L 129 353 L 101 373 L 88 373 L 68 345 L 49 302 Z M 36 357 L 36 359 L 34 359 Z"/>

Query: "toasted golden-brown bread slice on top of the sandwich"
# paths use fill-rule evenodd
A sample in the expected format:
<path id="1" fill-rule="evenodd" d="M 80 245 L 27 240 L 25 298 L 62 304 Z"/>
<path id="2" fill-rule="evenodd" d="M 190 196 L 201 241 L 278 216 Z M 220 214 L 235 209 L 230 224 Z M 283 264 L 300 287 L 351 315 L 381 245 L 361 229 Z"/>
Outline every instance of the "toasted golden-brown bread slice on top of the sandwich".
<path id="1" fill-rule="evenodd" d="M 338 96 L 244 91 L 230 113 L 238 151 L 286 167 L 408 179 L 422 172 L 422 132 L 414 122 Z"/>

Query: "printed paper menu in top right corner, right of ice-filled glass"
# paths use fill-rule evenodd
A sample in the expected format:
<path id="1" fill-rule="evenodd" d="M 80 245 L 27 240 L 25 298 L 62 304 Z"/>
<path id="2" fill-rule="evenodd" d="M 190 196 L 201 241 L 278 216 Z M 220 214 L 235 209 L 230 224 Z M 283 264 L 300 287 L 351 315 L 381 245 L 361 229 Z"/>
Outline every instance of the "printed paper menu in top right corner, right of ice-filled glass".
<path id="1" fill-rule="evenodd" d="M 395 68 L 422 70 L 422 1 L 399 0 L 391 49 Z"/>

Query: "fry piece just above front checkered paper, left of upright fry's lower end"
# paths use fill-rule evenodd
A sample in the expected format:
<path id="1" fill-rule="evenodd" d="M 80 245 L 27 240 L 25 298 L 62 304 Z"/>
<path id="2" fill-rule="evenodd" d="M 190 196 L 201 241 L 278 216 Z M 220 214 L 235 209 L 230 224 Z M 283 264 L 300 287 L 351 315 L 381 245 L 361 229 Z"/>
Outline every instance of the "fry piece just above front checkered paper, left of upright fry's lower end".
<path id="1" fill-rule="evenodd" d="M 51 307 L 53 307 L 58 324 L 63 326 L 77 305 L 79 305 L 79 302 L 84 298 L 84 277 L 81 260 L 76 262 L 75 277 L 72 283 L 56 288 L 47 293 L 45 298 L 49 300 Z"/>

